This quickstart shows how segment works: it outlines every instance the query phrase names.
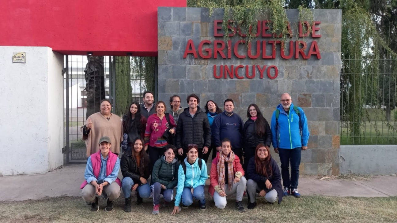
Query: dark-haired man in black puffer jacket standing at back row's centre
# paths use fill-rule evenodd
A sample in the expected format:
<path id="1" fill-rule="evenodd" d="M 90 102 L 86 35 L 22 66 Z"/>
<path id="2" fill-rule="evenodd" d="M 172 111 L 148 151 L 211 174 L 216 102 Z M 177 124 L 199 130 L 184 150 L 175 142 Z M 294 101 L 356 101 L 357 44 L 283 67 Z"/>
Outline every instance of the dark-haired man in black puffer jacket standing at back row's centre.
<path id="1" fill-rule="evenodd" d="M 176 126 L 175 146 L 180 160 L 186 157 L 185 151 L 189 144 L 197 145 L 198 158 L 202 158 L 202 154 L 206 154 L 211 146 L 211 127 L 206 113 L 198 107 L 200 98 L 191 94 L 186 101 L 189 108 L 185 108 L 179 115 Z"/>

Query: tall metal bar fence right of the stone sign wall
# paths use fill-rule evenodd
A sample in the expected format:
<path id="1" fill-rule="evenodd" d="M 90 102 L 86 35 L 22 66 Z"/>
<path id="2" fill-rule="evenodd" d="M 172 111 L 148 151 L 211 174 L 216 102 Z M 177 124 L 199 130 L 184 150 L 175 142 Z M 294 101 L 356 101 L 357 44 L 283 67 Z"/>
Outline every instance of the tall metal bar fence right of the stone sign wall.
<path id="1" fill-rule="evenodd" d="M 348 56 L 341 67 L 341 144 L 397 144 L 396 60 Z"/>

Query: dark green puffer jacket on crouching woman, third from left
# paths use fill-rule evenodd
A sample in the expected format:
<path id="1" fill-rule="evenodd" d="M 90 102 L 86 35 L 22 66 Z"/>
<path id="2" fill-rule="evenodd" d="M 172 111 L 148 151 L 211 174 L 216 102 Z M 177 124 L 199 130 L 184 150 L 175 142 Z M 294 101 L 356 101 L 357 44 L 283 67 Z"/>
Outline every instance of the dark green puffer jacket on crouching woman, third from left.
<path id="1" fill-rule="evenodd" d="M 167 163 L 165 156 L 154 163 L 152 171 L 152 183 L 160 183 L 167 189 L 174 188 L 178 184 L 178 168 L 179 162 L 173 159 L 171 163 Z"/>

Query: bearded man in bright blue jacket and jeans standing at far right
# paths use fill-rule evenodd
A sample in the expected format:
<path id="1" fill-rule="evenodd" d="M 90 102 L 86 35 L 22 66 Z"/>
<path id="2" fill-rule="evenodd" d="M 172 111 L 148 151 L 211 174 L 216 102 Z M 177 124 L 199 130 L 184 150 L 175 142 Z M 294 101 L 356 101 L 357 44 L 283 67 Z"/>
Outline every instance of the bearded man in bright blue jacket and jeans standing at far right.
<path id="1" fill-rule="evenodd" d="M 301 196 L 298 192 L 299 165 L 301 152 L 307 149 L 309 131 L 302 108 L 294 106 L 291 96 L 287 93 L 281 95 L 281 104 L 273 112 L 271 128 L 274 151 L 280 155 L 284 196 L 292 194 L 299 198 Z"/>

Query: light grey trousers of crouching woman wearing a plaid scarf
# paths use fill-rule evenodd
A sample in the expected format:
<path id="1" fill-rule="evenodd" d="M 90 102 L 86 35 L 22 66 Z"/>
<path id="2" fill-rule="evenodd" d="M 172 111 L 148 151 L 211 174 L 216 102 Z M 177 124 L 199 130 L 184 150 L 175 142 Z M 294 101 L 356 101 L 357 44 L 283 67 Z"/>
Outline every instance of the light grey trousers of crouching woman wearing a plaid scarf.
<path id="1" fill-rule="evenodd" d="M 225 194 L 226 195 L 236 194 L 236 200 L 242 201 L 246 184 L 247 184 L 247 180 L 245 179 L 245 177 L 241 177 L 239 182 L 233 183 L 233 186 L 230 188 L 230 190 L 229 190 L 229 185 L 225 185 Z M 220 196 L 218 192 L 215 191 L 214 202 L 217 208 L 224 209 L 226 206 L 226 197 Z"/>

